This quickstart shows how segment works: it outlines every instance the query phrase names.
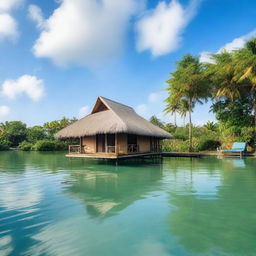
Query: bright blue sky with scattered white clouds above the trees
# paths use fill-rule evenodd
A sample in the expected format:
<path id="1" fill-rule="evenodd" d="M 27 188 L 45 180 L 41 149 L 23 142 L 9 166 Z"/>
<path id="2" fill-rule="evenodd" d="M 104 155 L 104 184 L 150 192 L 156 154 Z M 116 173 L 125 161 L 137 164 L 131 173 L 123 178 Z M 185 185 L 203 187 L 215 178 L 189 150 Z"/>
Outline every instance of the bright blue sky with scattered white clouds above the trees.
<path id="1" fill-rule="evenodd" d="M 172 121 L 175 62 L 242 47 L 255 21 L 254 0 L 0 0 L 0 121 L 82 117 L 99 95 Z M 214 120 L 209 105 L 196 124 Z"/>

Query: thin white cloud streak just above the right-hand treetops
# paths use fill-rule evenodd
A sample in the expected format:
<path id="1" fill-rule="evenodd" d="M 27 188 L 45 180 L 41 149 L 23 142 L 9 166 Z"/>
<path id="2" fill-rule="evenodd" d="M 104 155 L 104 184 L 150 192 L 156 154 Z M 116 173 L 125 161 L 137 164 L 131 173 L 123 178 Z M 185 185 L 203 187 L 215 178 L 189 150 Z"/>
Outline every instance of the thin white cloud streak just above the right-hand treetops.
<path id="1" fill-rule="evenodd" d="M 256 37 L 256 29 L 251 31 L 250 33 L 237 37 L 233 39 L 231 42 L 225 44 L 224 46 L 220 47 L 217 53 L 221 53 L 222 51 L 232 52 L 234 50 L 241 49 L 245 46 L 246 42 L 252 39 L 253 37 Z M 210 58 L 210 55 L 212 53 L 210 52 L 201 52 L 199 56 L 200 62 L 204 63 L 214 63 L 214 61 Z"/>

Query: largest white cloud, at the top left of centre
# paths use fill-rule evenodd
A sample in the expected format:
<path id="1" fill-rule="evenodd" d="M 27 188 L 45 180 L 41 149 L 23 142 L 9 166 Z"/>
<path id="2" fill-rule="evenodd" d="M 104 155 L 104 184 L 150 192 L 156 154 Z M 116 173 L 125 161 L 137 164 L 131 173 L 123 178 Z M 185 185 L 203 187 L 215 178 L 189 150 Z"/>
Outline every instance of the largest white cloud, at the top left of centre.
<path id="1" fill-rule="evenodd" d="M 60 0 L 35 42 L 37 57 L 57 65 L 95 66 L 123 48 L 129 20 L 144 0 Z"/>

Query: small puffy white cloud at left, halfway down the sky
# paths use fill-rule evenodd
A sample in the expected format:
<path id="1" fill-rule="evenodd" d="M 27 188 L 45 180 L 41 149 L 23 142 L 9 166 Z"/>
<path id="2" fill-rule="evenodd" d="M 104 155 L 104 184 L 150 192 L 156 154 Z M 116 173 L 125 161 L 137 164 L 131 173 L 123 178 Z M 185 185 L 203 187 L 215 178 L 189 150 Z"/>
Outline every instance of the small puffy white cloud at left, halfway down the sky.
<path id="1" fill-rule="evenodd" d="M 44 95 L 43 81 L 35 76 L 23 75 L 16 80 L 4 81 L 1 93 L 10 99 L 26 94 L 33 101 L 38 101 Z"/>

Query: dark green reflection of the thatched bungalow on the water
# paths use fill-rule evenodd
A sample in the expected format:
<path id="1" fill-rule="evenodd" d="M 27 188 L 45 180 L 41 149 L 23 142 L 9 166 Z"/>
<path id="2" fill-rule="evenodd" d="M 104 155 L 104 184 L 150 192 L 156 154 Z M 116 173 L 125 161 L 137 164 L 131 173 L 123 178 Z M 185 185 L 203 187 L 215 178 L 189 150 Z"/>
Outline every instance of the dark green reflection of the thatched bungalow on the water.
<path id="1" fill-rule="evenodd" d="M 66 192 L 80 199 L 92 217 L 109 217 L 158 190 L 161 176 L 161 165 L 120 166 L 115 172 L 74 170 Z"/>

